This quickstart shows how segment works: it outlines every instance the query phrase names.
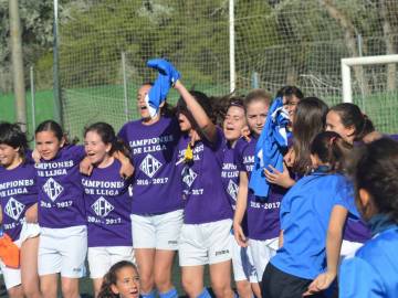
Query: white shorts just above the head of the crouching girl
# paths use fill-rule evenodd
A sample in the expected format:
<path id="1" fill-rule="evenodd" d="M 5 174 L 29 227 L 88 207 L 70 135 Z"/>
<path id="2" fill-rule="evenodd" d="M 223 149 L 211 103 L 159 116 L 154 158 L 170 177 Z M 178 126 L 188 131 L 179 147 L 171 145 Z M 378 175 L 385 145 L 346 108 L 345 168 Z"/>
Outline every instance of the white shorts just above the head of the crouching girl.
<path id="1" fill-rule="evenodd" d="M 102 278 L 111 266 L 119 260 L 135 263 L 133 246 L 88 247 L 88 267 L 91 278 Z"/>

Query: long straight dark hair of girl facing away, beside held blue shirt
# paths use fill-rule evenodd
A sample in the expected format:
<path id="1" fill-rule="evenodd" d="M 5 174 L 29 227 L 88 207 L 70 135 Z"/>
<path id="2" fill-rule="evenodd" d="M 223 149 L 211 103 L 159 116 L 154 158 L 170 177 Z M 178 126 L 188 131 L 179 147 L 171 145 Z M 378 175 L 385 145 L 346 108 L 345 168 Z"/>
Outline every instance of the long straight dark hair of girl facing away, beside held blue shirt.
<path id="1" fill-rule="evenodd" d="M 305 97 L 297 104 L 293 120 L 293 171 L 304 175 L 311 170 L 311 143 L 324 131 L 327 105 L 317 97 Z"/>

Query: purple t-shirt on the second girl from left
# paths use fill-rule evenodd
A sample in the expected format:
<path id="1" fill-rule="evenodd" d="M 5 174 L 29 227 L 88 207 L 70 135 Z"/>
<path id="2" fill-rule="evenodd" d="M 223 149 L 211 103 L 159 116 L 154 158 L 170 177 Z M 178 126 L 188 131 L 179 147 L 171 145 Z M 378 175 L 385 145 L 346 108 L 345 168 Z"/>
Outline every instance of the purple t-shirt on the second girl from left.
<path id="1" fill-rule="evenodd" d="M 83 146 L 67 145 L 52 160 L 34 164 L 39 189 L 39 224 L 62 228 L 85 225 L 80 162 L 85 157 Z"/>

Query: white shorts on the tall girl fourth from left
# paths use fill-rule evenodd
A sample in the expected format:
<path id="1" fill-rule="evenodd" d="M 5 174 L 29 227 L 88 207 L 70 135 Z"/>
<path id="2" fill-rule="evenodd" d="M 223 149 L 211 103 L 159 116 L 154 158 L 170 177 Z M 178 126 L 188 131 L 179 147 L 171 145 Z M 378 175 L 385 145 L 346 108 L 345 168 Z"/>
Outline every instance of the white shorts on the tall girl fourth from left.
<path id="1" fill-rule="evenodd" d="M 184 210 L 157 215 L 132 214 L 134 248 L 177 251 Z"/>

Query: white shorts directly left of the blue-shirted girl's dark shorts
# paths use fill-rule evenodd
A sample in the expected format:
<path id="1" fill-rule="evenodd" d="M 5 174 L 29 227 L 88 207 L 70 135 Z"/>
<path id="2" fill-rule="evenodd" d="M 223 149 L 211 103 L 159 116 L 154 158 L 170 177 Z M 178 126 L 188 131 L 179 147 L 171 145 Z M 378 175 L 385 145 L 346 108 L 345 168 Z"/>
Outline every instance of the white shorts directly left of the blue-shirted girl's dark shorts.
<path id="1" fill-rule="evenodd" d="M 262 279 L 263 273 L 271 257 L 276 254 L 279 248 L 277 245 L 279 237 L 266 241 L 249 240 L 249 249 L 253 257 L 259 283 Z"/>

